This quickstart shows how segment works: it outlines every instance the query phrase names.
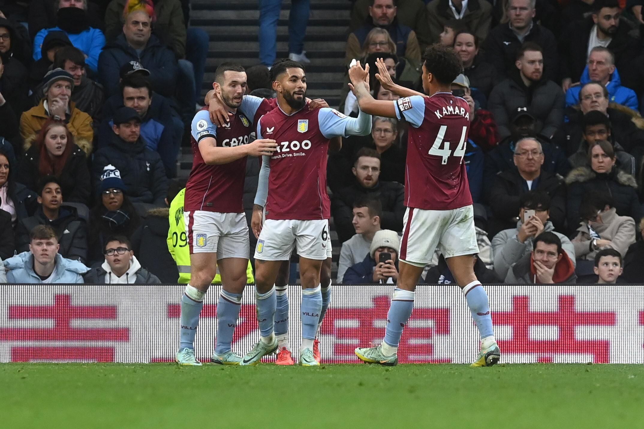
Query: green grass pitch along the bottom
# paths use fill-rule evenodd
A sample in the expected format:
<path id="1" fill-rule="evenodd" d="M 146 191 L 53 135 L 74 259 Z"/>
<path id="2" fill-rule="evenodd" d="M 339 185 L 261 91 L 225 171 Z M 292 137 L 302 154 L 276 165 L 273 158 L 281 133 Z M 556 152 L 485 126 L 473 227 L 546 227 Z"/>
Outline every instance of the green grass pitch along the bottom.
<path id="1" fill-rule="evenodd" d="M 0 427 L 644 428 L 644 366 L 10 363 Z"/>

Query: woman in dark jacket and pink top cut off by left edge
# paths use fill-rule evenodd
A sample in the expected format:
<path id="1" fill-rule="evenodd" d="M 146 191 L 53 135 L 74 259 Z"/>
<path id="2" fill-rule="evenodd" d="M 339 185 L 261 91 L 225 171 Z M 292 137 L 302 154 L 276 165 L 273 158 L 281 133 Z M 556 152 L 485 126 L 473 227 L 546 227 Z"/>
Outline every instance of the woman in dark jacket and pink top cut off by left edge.
<path id="1" fill-rule="evenodd" d="M 12 227 L 18 219 L 33 215 L 38 202 L 35 192 L 14 180 L 11 156 L 0 149 L 0 210 L 11 216 Z"/>

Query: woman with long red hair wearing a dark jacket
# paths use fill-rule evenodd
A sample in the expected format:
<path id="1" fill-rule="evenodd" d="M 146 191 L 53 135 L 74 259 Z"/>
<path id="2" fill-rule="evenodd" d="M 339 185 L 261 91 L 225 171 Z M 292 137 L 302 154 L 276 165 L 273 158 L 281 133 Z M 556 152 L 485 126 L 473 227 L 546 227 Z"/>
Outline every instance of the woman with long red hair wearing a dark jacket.
<path id="1" fill-rule="evenodd" d="M 55 176 L 61 182 L 66 203 L 90 203 L 90 170 L 85 152 L 74 143 L 64 122 L 48 120 L 33 144 L 26 147 L 18 181 L 35 191 L 44 176 Z"/>

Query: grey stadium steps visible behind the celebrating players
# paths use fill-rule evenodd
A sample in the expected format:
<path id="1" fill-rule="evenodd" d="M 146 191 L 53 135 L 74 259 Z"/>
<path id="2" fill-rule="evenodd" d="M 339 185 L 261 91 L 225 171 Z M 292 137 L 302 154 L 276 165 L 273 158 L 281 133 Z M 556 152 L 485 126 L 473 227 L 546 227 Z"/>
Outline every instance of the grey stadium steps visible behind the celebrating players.
<path id="1" fill-rule="evenodd" d="M 311 1 L 304 46 L 311 60 L 307 66 L 307 95 L 309 98 L 324 98 L 332 107 L 340 103 L 351 4 L 348 0 Z M 278 22 L 278 58 L 289 55 L 289 10 L 290 1 L 283 1 Z M 257 0 L 191 1 L 190 25 L 204 28 L 210 35 L 203 95 L 212 89 L 214 71 L 222 62 L 238 62 L 244 67 L 260 64 L 259 17 Z M 190 148 L 182 148 L 179 165 L 179 177 L 187 178 L 192 167 Z M 331 231 L 334 248 L 332 278 L 336 278 L 340 247 L 333 225 Z"/>

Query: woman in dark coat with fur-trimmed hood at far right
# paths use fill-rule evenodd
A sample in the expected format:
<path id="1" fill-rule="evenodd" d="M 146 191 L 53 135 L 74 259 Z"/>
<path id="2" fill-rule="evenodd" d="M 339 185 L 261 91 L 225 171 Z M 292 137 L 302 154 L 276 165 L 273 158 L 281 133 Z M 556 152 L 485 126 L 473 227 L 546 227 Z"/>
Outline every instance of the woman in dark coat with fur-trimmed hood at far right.
<path id="1" fill-rule="evenodd" d="M 565 179 L 568 185 L 568 227 L 580 223 L 580 205 L 593 191 L 608 192 L 613 207 L 620 216 L 630 216 L 639 222 L 644 215 L 639 203 L 635 178 L 615 166 L 615 150 L 606 140 L 597 140 L 588 149 L 590 167 L 578 167 Z"/>

